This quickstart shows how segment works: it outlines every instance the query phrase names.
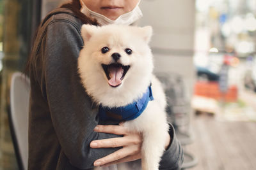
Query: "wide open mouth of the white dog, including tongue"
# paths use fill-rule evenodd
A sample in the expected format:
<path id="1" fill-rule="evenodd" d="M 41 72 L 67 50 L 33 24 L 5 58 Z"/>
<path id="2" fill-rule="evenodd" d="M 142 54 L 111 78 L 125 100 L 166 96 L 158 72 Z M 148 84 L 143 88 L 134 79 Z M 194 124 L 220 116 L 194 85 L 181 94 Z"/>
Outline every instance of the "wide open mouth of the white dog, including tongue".
<path id="1" fill-rule="evenodd" d="M 119 63 L 113 63 L 109 65 L 102 64 L 102 67 L 108 78 L 108 84 L 111 87 L 118 87 L 121 85 L 125 74 L 130 68 L 130 66 L 124 66 Z"/>

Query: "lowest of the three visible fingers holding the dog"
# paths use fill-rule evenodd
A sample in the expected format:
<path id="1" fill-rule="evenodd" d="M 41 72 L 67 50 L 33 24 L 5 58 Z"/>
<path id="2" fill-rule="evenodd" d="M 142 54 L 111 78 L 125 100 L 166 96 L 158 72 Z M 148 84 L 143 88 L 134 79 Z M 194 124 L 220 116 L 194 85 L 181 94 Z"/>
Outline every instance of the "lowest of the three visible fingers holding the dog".
<path id="1" fill-rule="evenodd" d="M 102 166 L 104 164 L 108 164 L 110 162 L 114 162 L 119 159 L 123 159 L 124 157 L 127 157 L 129 155 L 137 154 L 140 151 L 139 148 L 136 148 L 136 146 L 127 146 L 120 150 L 117 150 L 114 153 L 111 153 L 107 155 L 106 157 L 103 157 L 101 159 L 95 160 L 93 163 L 94 166 Z"/>

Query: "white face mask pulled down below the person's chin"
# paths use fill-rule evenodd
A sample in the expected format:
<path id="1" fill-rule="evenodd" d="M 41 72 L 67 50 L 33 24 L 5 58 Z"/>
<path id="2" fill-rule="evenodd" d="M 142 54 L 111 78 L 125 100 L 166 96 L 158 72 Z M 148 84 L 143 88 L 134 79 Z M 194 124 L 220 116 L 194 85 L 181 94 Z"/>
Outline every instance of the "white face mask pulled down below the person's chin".
<path id="1" fill-rule="evenodd" d="M 104 15 L 101 15 L 100 13 L 90 10 L 84 4 L 83 0 L 80 0 L 80 3 L 82 6 L 81 12 L 84 13 L 84 15 L 95 18 L 100 25 L 108 25 L 108 24 L 131 25 L 132 23 L 136 22 L 142 17 L 142 13 L 139 7 L 140 1 L 132 11 L 129 11 L 128 13 L 124 13 L 123 15 L 120 15 L 118 18 L 116 18 L 116 20 L 111 20 L 105 17 Z"/>

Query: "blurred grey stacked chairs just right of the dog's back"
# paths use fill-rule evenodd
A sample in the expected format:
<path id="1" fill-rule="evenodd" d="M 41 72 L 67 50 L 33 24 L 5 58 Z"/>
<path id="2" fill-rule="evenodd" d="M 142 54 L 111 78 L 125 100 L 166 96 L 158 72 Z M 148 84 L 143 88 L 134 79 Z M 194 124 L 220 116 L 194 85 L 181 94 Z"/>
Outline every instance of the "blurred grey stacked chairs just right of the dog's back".
<path id="1" fill-rule="evenodd" d="M 156 76 L 161 81 L 166 94 L 168 121 L 173 124 L 177 139 L 179 139 L 184 150 L 184 162 L 181 170 L 195 167 L 198 160 L 186 150 L 186 145 L 193 143 L 193 138 L 190 134 L 190 104 L 186 94 L 185 82 L 182 76 L 175 73 L 156 73 Z"/>

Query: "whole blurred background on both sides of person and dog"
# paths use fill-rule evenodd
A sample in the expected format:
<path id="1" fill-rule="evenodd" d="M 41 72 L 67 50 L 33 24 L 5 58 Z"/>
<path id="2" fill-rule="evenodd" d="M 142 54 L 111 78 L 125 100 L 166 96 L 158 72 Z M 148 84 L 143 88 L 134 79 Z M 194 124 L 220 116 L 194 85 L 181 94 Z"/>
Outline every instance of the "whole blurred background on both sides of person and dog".
<path id="1" fill-rule="evenodd" d="M 0 170 L 19 169 L 10 82 L 40 20 L 61 0 L 0 0 Z M 185 151 L 183 169 L 256 169 L 256 0 L 142 0 L 155 72 Z"/>

